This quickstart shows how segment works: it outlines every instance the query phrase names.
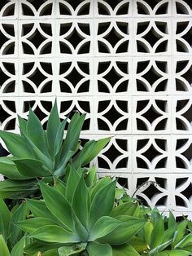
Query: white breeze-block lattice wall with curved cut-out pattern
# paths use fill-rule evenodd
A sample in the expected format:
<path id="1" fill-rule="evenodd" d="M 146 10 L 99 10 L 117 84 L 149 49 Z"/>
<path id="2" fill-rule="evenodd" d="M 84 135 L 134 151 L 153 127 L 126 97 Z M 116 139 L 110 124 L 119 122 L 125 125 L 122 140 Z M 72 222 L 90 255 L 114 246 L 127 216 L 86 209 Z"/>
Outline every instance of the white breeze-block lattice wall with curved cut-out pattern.
<path id="1" fill-rule="evenodd" d="M 152 206 L 192 216 L 191 0 L 1 0 L 1 129 L 29 104 L 87 113 L 95 161 Z M 153 182 L 157 183 L 153 186 Z"/>

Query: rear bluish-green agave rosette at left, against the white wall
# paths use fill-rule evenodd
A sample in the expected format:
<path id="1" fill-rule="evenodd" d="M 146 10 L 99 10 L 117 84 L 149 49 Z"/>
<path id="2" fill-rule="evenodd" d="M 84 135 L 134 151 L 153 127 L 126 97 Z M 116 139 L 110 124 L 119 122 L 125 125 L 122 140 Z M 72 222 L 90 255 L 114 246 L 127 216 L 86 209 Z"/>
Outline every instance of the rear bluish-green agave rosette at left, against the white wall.
<path id="1" fill-rule="evenodd" d="M 56 102 L 50 112 L 46 130 L 43 130 L 40 120 L 31 109 L 28 120 L 18 118 L 20 135 L 0 130 L 0 137 L 12 155 L 0 157 L 0 173 L 7 177 L 0 183 L 2 198 L 34 196 L 38 191 L 38 179 L 46 179 L 51 183 L 53 176 L 63 178 L 70 162 L 76 168 L 86 166 L 111 139 L 90 140 L 78 152 L 85 114 L 73 115 L 63 139 L 68 118 L 60 121 Z"/>

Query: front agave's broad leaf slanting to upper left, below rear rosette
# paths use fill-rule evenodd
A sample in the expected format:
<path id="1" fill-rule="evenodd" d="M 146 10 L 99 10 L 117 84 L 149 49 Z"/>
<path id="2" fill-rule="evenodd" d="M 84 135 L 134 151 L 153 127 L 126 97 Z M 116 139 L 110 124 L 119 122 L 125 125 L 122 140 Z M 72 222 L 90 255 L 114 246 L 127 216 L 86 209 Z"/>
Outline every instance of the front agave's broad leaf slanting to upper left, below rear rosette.
<path id="1" fill-rule="evenodd" d="M 63 223 L 63 225 L 72 230 L 72 209 L 67 199 L 55 188 L 51 188 L 42 182 L 39 184 L 47 208 L 55 215 L 56 218 L 59 219 L 60 222 Z M 57 200 L 55 200 L 55 198 Z"/>

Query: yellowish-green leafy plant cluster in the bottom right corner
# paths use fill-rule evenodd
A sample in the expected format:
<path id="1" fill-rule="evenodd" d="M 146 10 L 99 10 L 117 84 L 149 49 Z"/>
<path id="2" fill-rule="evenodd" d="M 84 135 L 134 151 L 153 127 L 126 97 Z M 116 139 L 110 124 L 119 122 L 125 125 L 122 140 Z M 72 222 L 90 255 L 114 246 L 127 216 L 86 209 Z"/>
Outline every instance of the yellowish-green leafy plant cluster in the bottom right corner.
<path id="1" fill-rule="evenodd" d="M 142 256 L 190 256 L 192 233 L 189 220 L 177 223 L 170 212 L 165 218 L 159 210 L 151 210 L 151 221 L 147 222 L 130 244 Z"/>

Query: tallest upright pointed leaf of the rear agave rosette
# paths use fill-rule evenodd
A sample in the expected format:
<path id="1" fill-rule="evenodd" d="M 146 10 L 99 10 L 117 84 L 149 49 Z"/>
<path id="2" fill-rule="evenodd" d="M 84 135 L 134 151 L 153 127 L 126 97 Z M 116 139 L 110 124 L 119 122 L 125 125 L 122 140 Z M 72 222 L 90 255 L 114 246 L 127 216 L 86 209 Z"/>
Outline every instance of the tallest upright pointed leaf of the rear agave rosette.
<path id="1" fill-rule="evenodd" d="M 57 103 L 55 101 L 54 107 L 51 109 L 50 117 L 47 121 L 46 136 L 49 144 L 50 156 L 55 157 L 55 140 L 60 126 L 59 113 Z"/>

